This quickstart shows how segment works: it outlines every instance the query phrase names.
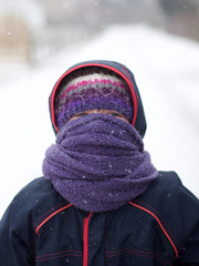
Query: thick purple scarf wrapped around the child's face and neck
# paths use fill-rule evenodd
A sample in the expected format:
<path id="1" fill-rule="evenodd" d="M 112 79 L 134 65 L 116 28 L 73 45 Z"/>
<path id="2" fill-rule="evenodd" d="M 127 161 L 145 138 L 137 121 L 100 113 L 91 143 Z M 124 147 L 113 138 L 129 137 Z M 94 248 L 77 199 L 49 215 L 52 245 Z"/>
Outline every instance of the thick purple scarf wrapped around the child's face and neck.
<path id="1" fill-rule="evenodd" d="M 45 156 L 44 177 L 65 200 L 88 212 L 123 206 L 158 175 L 138 132 L 102 113 L 66 123 Z"/>

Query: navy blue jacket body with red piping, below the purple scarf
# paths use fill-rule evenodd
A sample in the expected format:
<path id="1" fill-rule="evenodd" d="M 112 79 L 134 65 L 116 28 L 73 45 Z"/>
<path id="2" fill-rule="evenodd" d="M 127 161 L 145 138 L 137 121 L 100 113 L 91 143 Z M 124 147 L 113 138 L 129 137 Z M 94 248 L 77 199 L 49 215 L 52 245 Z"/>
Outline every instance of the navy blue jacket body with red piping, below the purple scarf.
<path id="1" fill-rule="evenodd" d="M 174 172 L 159 172 L 127 205 L 86 213 L 41 177 L 0 223 L 0 265 L 199 265 L 199 203 Z"/>

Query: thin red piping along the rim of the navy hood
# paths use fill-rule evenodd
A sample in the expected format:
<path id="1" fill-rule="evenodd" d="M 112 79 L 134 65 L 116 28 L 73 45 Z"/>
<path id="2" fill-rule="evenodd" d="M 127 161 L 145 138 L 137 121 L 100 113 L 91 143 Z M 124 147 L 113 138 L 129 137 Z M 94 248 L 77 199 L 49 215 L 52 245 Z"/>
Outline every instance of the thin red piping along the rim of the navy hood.
<path id="1" fill-rule="evenodd" d="M 64 76 L 66 76 L 67 74 L 70 74 L 71 72 L 77 70 L 77 69 L 82 69 L 82 68 L 85 68 L 85 66 L 101 66 L 101 68 L 105 68 L 105 69 L 109 69 L 112 71 L 114 71 L 115 73 L 119 74 L 128 84 L 129 89 L 130 89 L 130 92 L 132 92 L 132 98 L 133 98 L 133 105 L 134 105 L 134 117 L 133 117 L 133 121 L 132 121 L 132 125 L 135 125 L 135 122 L 136 122 L 136 117 L 137 117 L 137 96 L 136 96 L 136 93 L 134 91 L 134 88 L 130 83 L 130 81 L 126 78 L 125 74 L 123 74 L 119 70 L 113 68 L 113 66 L 109 66 L 109 65 L 106 65 L 106 64 L 100 64 L 100 63 L 87 63 L 87 64 L 81 64 L 74 69 L 71 69 L 69 71 L 66 71 L 56 82 L 54 89 L 53 89 L 53 92 L 52 92 L 52 96 L 51 96 L 51 117 L 52 117 L 52 123 L 54 125 L 54 129 L 56 130 L 56 132 L 59 132 L 59 129 L 56 126 L 56 123 L 55 123 L 55 116 L 54 116 L 54 96 L 55 96 L 55 93 L 56 93 L 56 89 L 59 88 L 60 85 L 60 82 L 62 81 L 62 79 Z"/>

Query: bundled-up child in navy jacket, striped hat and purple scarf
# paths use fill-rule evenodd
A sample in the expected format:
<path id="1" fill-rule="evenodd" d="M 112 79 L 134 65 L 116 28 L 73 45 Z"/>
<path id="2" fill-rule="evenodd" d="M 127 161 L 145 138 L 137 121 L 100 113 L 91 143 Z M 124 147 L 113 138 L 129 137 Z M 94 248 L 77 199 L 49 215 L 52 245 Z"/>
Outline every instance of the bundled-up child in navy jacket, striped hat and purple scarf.
<path id="1" fill-rule="evenodd" d="M 73 65 L 50 113 L 56 143 L 44 177 L 0 223 L 0 265 L 199 265 L 199 202 L 144 150 L 133 73 L 112 61 Z"/>

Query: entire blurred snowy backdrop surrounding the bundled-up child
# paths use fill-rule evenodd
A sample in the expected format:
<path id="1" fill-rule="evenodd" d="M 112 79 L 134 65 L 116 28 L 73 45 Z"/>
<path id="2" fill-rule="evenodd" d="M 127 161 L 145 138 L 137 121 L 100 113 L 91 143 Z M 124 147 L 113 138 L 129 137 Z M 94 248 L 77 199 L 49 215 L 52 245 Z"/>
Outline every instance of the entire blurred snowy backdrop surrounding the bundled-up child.
<path id="1" fill-rule="evenodd" d="M 126 64 L 143 96 L 146 150 L 199 196 L 198 0 L 0 0 L 0 216 L 42 175 L 48 96 L 71 64 Z"/>

